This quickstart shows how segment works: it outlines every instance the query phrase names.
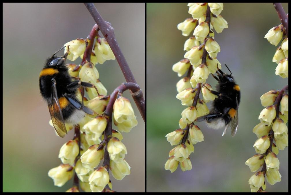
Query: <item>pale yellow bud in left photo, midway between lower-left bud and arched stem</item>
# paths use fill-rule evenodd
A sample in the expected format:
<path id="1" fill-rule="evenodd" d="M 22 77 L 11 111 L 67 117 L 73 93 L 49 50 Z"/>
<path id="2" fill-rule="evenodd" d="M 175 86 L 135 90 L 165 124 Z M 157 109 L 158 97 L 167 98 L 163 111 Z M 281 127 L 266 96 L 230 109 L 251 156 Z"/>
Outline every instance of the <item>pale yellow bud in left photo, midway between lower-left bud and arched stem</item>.
<path id="1" fill-rule="evenodd" d="M 81 156 L 82 166 L 87 169 L 97 167 L 104 156 L 103 148 L 99 148 L 98 144 L 90 146 L 86 152 Z"/>

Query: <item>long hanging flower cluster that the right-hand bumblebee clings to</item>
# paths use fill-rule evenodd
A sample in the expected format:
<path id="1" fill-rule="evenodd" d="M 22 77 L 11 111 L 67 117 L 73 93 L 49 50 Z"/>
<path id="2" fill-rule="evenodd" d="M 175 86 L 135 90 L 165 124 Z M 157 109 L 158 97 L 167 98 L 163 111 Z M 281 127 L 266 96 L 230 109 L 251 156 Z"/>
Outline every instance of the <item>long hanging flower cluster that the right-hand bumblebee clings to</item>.
<path id="1" fill-rule="evenodd" d="M 214 29 L 221 33 L 224 28 L 228 28 L 227 22 L 220 15 L 223 10 L 223 3 L 188 3 L 189 14 L 192 18 L 186 19 L 178 24 L 178 29 L 183 36 L 193 36 L 184 43 L 184 59 L 173 65 L 173 71 L 178 73 L 182 79 L 176 84 L 178 94 L 177 99 L 182 105 L 187 106 L 181 113 L 179 120 L 180 129 L 166 135 L 171 145 L 177 145 L 169 153 L 169 159 L 165 164 L 165 169 L 175 171 L 180 163 L 182 171 L 192 168 L 189 154 L 194 151 L 193 144 L 204 140 L 200 128 L 194 121 L 209 114 L 206 103 L 213 101 L 217 96 L 212 94 L 211 85 L 205 83 L 209 74 L 213 74 L 217 69 L 221 69 L 221 64 L 217 60 L 220 52 L 219 44 L 214 40 Z M 199 99 L 202 87 L 203 100 Z"/>

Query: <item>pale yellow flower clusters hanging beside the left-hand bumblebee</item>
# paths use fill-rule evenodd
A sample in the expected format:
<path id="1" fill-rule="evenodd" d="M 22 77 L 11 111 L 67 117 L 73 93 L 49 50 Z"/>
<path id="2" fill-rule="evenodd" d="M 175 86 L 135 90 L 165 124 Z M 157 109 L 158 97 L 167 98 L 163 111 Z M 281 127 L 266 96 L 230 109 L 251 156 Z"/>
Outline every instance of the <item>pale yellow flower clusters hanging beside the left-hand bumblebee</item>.
<path id="1" fill-rule="evenodd" d="M 95 28 L 93 30 L 96 31 Z M 95 64 L 103 64 L 105 60 L 115 59 L 115 56 L 106 40 L 99 37 L 97 31 L 95 33 L 92 40 L 79 38 L 64 45 L 69 45 L 68 59 L 73 61 L 79 56 L 83 58 L 91 42 L 91 50 L 89 48 L 91 61 L 84 60 L 84 56 L 84 63 L 82 61 L 81 65 L 69 64 L 68 68 L 71 76 L 78 76 L 81 81 L 94 85 L 93 88 L 86 88 L 88 99 L 84 97 L 84 92 L 83 97 L 81 93 L 78 94 L 79 100 L 83 99 L 84 105 L 93 110 L 94 115 L 86 115 L 78 121 L 74 139 L 66 142 L 60 149 L 59 158 L 63 164 L 49 170 L 48 175 L 54 180 L 54 185 L 61 187 L 72 178 L 75 170 L 80 187 L 85 192 L 113 192 L 109 169 L 117 180 L 122 180 L 130 174 L 130 166 L 125 161 L 127 149 L 121 142 L 123 136 L 120 132 L 129 132 L 137 125 L 137 120 L 129 100 L 122 96 L 122 92 L 117 99 L 116 96 L 107 96 L 107 90 L 99 80 L 99 72 Z M 96 43 L 92 51 L 95 38 Z M 111 113 L 107 113 L 110 100 Z M 112 110 L 118 130 L 111 129 L 112 122 L 109 120 L 112 120 Z M 51 121 L 50 124 L 52 125 Z M 73 126 L 66 124 L 66 128 L 72 129 Z M 98 167 L 102 159 L 104 159 L 103 165 Z M 73 186 L 68 192 L 79 192 L 79 189 Z"/>

